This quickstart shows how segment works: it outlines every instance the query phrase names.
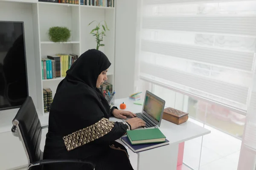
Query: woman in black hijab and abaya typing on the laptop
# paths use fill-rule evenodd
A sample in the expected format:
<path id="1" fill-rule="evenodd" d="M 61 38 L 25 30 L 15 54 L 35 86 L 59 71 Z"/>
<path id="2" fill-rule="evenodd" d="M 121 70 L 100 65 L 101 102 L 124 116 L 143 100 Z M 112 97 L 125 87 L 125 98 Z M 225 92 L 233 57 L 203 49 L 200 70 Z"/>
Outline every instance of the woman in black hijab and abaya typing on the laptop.
<path id="1" fill-rule="evenodd" d="M 145 126 L 139 118 L 111 122 L 109 117 L 135 117 L 108 105 L 99 91 L 111 63 L 101 51 L 82 54 L 58 85 L 49 112 L 44 159 L 82 159 L 95 170 L 133 170 L 125 147 L 118 142 L 127 130 Z M 45 170 L 90 170 L 84 164 L 51 164 Z"/>

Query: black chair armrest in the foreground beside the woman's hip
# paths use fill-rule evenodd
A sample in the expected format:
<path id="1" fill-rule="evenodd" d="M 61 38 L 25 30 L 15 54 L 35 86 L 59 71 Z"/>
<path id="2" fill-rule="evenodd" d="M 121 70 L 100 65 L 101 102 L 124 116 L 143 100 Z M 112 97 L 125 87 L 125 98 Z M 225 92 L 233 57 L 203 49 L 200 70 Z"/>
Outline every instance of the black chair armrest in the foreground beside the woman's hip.
<path id="1" fill-rule="evenodd" d="M 28 168 L 44 165 L 44 164 L 55 164 L 55 163 L 80 163 L 80 164 L 89 164 L 93 169 L 95 168 L 95 164 L 90 161 L 83 161 L 80 159 L 43 159 L 41 161 L 35 161 L 32 164 L 29 164 Z"/>

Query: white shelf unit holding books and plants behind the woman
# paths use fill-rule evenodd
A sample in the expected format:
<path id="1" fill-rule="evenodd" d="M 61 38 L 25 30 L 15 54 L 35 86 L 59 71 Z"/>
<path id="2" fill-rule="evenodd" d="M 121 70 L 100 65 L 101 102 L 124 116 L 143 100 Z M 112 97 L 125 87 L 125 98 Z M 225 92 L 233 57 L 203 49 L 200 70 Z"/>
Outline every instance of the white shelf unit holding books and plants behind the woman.
<path id="1" fill-rule="evenodd" d="M 31 2 L 31 3 L 29 3 Z M 27 8 L 32 13 L 32 30 L 33 33 L 26 31 L 28 27 L 24 23 L 25 40 L 28 34 L 33 37 L 34 58 L 35 65 L 31 65 L 31 60 L 27 59 L 27 68 L 29 71 L 35 71 L 35 78 L 31 78 L 36 85 L 28 84 L 29 88 L 35 89 L 29 96 L 32 97 L 37 111 L 41 115 L 44 113 L 44 99 L 43 88 L 50 88 L 52 90 L 52 97 L 54 98 L 57 86 L 64 77 L 55 79 L 42 79 L 41 73 L 41 59 L 47 58 L 47 55 L 54 54 L 77 54 L 80 56 L 88 49 L 96 48 L 96 40 L 90 34 L 90 31 L 95 28 L 96 23 L 88 26 L 93 20 L 106 21 L 110 31 L 106 32 L 104 38 L 105 46 L 100 47 L 110 62 L 112 63 L 108 71 L 108 82 L 114 86 L 114 45 L 115 45 L 115 8 L 101 7 L 101 6 L 86 6 L 64 3 L 47 3 L 37 2 L 35 0 L 0 0 L 1 8 L 7 6 L 11 8 L 15 6 L 17 12 L 22 15 L 23 9 L 18 9 L 19 6 Z M 114 5 L 115 6 L 115 5 Z M 8 19 L 7 19 L 8 20 Z M 22 21 L 22 20 L 20 20 Z M 51 42 L 48 37 L 48 30 L 52 26 L 65 26 L 71 30 L 71 37 L 68 42 Z M 30 27 L 31 28 L 31 27 Z M 26 52 L 29 47 L 26 46 Z M 29 58 L 29 57 L 28 57 Z M 30 57 L 31 58 L 31 57 Z M 28 64 L 28 61 L 30 63 Z M 30 81 L 30 80 L 29 80 Z M 36 94 L 35 94 L 36 93 Z"/>

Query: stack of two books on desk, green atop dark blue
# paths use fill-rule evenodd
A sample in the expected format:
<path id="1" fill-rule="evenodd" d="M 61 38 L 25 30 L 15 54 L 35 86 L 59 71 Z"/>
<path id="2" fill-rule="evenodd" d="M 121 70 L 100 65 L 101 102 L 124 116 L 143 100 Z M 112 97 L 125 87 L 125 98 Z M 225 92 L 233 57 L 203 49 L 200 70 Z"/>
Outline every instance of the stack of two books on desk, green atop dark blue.
<path id="1" fill-rule="evenodd" d="M 134 153 L 169 144 L 169 140 L 158 128 L 128 130 L 127 136 L 121 138 Z"/>

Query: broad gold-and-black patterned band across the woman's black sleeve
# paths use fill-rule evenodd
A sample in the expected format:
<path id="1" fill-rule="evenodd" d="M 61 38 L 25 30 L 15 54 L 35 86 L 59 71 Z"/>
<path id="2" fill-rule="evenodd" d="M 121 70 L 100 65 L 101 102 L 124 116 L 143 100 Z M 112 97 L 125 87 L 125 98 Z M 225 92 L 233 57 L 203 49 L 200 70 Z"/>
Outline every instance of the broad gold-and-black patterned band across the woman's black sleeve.
<path id="1" fill-rule="evenodd" d="M 99 139 L 108 134 L 114 127 L 114 124 L 114 122 L 102 118 L 99 122 L 96 122 L 93 125 L 64 136 L 63 140 L 67 151 L 73 150 L 76 147 L 92 142 L 95 139 Z"/>

